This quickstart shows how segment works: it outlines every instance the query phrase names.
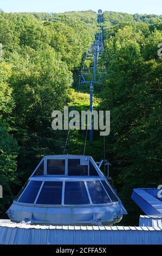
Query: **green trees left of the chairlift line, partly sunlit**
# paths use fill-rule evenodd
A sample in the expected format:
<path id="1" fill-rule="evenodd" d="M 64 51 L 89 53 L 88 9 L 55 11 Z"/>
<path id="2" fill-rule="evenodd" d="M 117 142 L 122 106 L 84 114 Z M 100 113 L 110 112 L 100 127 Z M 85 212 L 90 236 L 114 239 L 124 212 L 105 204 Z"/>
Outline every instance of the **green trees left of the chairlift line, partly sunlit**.
<path id="1" fill-rule="evenodd" d="M 67 105 L 73 70 L 95 34 L 94 27 L 89 29 L 93 17 L 84 21 L 77 14 L 45 16 L 0 13 L 3 213 L 41 157 L 63 153 L 66 133 L 51 129 L 51 113 Z"/>

